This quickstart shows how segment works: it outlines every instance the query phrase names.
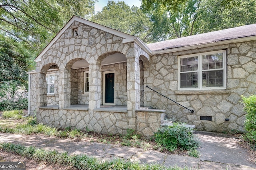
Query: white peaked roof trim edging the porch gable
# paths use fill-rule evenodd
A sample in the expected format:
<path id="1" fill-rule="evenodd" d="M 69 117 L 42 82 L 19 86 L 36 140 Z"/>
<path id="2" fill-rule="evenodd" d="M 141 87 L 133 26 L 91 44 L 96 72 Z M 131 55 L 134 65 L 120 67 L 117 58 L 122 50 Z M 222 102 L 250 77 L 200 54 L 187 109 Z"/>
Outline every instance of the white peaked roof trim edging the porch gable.
<path id="1" fill-rule="evenodd" d="M 57 33 L 57 35 L 52 39 L 52 41 L 50 41 L 50 43 L 43 49 L 43 51 L 36 57 L 36 59 L 35 59 L 36 62 L 41 61 L 41 57 L 44 55 L 44 53 L 46 53 L 46 51 L 48 51 L 48 49 L 57 41 L 57 39 L 62 35 L 62 33 L 64 33 L 64 31 L 66 31 L 66 29 L 68 29 L 68 27 L 74 21 L 78 21 L 80 23 L 84 23 L 85 25 L 89 25 L 91 27 L 100 29 L 102 31 L 106 31 L 106 32 L 114 34 L 114 35 L 116 35 L 118 37 L 122 37 L 123 38 L 123 43 L 136 42 L 147 53 L 149 53 L 149 54 L 152 53 L 152 51 L 150 51 L 150 49 L 138 37 L 136 37 L 134 35 L 130 35 L 130 34 L 118 31 L 116 29 L 105 27 L 103 25 L 100 25 L 100 24 L 92 22 L 92 21 L 88 21 L 88 20 L 85 20 L 83 18 L 79 18 L 77 16 L 73 16 L 68 21 L 68 23 L 66 23 L 66 25 L 64 25 L 64 27 Z"/>

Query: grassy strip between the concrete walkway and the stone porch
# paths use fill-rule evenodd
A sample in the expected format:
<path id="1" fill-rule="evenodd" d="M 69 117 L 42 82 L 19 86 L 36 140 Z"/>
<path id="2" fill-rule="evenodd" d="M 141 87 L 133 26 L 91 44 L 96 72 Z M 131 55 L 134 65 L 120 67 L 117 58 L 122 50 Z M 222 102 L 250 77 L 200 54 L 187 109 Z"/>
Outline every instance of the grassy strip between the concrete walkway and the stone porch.
<path id="1" fill-rule="evenodd" d="M 20 113 L 20 112 L 17 112 Z M 16 123 L 15 123 L 16 122 Z M 80 129 L 72 129 L 66 127 L 64 130 L 57 129 L 56 127 L 50 127 L 43 125 L 42 123 L 36 124 L 36 117 L 23 117 L 20 119 L 0 119 L 0 132 L 3 133 L 18 133 L 24 135 L 32 134 L 44 134 L 47 136 L 79 139 L 88 142 L 99 142 L 105 144 L 122 145 L 128 147 L 138 147 L 143 150 L 154 149 L 160 152 L 168 152 L 165 147 L 154 143 L 154 139 L 142 140 L 140 136 L 136 135 L 134 129 L 128 129 L 125 136 L 113 135 L 113 134 L 100 134 L 90 131 L 87 127 L 85 131 Z M 180 152 L 183 152 L 180 150 Z M 196 151 L 188 152 L 191 156 L 196 157 Z"/>

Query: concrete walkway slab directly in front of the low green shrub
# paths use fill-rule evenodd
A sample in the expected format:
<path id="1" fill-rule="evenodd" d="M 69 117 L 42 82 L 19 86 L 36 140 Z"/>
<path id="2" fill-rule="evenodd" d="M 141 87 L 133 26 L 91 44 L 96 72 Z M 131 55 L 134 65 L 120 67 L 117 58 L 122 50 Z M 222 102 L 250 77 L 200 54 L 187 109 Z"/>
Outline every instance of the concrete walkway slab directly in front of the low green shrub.
<path id="1" fill-rule="evenodd" d="M 188 167 L 192 169 L 198 169 L 200 164 L 199 158 L 190 156 L 180 156 L 177 154 L 170 154 L 166 156 L 164 165 L 166 166 L 178 166 L 180 168 Z"/>

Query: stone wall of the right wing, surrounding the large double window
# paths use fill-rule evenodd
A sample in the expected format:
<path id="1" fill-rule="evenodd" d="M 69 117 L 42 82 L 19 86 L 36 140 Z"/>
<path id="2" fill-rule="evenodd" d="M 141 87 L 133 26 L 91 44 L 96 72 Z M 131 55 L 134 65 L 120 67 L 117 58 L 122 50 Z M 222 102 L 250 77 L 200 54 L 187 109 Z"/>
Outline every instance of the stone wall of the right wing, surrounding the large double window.
<path id="1" fill-rule="evenodd" d="M 227 52 L 226 90 L 178 91 L 179 55 L 223 49 Z M 145 88 L 145 106 L 166 109 L 167 119 L 175 118 L 204 131 L 244 131 L 245 112 L 240 102 L 241 95 L 256 93 L 256 41 L 152 56 L 150 66 L 144 70 L 144 84 L 195 111 L 190 113 Z M 200 120 L 202 115 L 212 116 L 212 121 Z"/>

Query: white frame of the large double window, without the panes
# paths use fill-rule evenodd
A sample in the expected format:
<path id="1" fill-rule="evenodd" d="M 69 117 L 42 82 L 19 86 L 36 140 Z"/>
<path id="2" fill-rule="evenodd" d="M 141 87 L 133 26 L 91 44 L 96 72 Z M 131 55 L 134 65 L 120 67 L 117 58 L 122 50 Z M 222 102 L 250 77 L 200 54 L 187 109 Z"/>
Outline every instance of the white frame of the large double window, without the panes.
<path id="1" fill-rule="evenodd" d="M 223 53 L 222 69 L 223 69 L 223 86 L 222 87 L 202 87 L 202 56 L 216 53 Z M 180 59 L 198 56 L 198 88 L 180 88 Z M 214 70 L 214 69 L 212 69 Z M 221 69 L 216 69 L 221 70 Z M 192 71 L 193 72 L 193 71 Z M 191 55 L 178 56 L 178 90 L 223 90 L 226 89 L 226 50 L 210 51 L 206 53 L 197 53 Z"/>

